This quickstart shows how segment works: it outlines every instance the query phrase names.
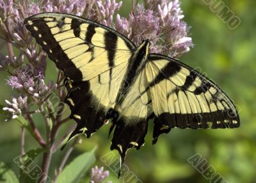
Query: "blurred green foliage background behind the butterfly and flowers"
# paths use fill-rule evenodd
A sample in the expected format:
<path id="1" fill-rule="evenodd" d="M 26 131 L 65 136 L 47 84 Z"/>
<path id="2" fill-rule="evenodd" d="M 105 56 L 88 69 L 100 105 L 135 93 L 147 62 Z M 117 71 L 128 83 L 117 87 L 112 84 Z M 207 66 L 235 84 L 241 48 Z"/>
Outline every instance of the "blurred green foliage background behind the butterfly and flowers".
<path id="1" fill-rule="evenodd" d="M 200 153 L 207 159 L 206 166 L 212 165 L 228 182 L 256 182 L 256 115 L 253 115 L 256 109 L 256 2 L 223 1 L 241 19 L 241 25 L 234 30 L 229 29 L 204 1 L 181 2 L 184 21 L 191 26 L 189 36 L 193 38 L 195 48 L 182 56 L 180 61 L 191 67 L 200 67 L 234 100 L 240 113 L 241 127 L 173 129 L 169 134 L 160 136 L 157 144 L 152 146 L 153 125 L 150 123 L 145 145 L 139 151 L 129 150 L 125 164 L 143 182 L 209 182 L 187 160 Z M 129 1 L 123 3 L 118 13 L 125 16 L 131 10 L 131 4 Z M 51 62 L 46 76 L 47 81 L 56 78 L 56 67 Z M 4 99 L 17 96 L 17 93 L 6 86 L 6 74 L 0 72 L 0 78 L 0 104 L 4 105 Z M 18 167 L 12 160 L 20 154 L 20 127 L 14 122 L 4 123 L 3 116 L 0 116 L 0 120 L 0 161 L 17 173 Z M 62 132 L 71 123 L 74 122 L 67 123 Z M 36 118 L 36 125 L 44 131 L 40 117 Z M 105 166 L 110 171 L 108 180 L 127 182 L 122 178 L 117 179 L 116 172 L 111 170 L 114 164 L 108 167 L 100 160 L 110 152 L 108 130 L 109 127 L 104 126 L 92 138 L 83 138 L 83 143 L 76 146 L 70 160 L 97 145 L 95 164 Z M 28 134 L 26 150 L 35 147 L 38 145 Z M 118 158 L 118 153 L 114 154 Z M 60 150 L 54 154 L 51 174 L 63 155 L 64 152 Z"/>

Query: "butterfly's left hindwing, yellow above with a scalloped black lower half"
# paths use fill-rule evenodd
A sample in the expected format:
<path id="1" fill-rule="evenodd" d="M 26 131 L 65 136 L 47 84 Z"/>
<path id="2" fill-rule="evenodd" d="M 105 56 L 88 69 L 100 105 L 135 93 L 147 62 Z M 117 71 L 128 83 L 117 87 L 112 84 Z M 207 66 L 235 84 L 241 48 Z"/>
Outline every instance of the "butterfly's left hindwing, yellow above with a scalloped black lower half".
<path id="1" fill-rule="evenodd" d="M 115 106 L 118 88 L 121 85 L 127 65 L 122 63 L 117 67 L 100 74 L 90 81 L 72 83 L 68 81 L 68 95 L 65 99 L 71 109 L 70 118 L 76 120 L 77 127 L 73 136 L 85 133 L 88 138 L 104 123 L 108 110 Z M 68 83 L 72 83 L 71 85 Z M 72 88 L 70 88 L 72 87 Z"/>

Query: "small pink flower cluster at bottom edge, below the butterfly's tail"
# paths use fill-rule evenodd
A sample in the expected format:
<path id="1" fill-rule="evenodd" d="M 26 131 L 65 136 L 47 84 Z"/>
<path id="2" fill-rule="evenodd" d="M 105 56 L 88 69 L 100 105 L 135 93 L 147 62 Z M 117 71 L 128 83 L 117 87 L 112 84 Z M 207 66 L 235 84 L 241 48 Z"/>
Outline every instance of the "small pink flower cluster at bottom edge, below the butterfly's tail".
<path id="1" fill-rule="evenodd" d="M 109 171 L 103 171 L 103 169 L 103 167 L 98 168 L 98 166 L 92 168 L 90 183 L 101 183 L 108 177 Z M 111 183 L 111 181 L 108 181 L 108 183 Z"/>

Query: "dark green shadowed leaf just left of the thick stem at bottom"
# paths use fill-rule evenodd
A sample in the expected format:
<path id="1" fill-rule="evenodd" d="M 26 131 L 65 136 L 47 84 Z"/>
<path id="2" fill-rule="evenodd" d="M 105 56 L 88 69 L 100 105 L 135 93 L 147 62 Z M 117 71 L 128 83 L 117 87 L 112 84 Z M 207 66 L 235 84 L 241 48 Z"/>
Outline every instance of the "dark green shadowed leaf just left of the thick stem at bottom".
<path id="1" fill-rule="evenodd" d="M 42 171 L 38 164 L 33 163 L 35 158 L 44 152 L 44 148 L 35 148 L 33 150 L 29 150 L 24 155 L 20 155 L 13 159 L 13 161 L 20 167 L 20 176 L 19 180 L 20 183 L 22 182 L 35 182 L 38 179 L 38 176 L 41 174 Z"/>

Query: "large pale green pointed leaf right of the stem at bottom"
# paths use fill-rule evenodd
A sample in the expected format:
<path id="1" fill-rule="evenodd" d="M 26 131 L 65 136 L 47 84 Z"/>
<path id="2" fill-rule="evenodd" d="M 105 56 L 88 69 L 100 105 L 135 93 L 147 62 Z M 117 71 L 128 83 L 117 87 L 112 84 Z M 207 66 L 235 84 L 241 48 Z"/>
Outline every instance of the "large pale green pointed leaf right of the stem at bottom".
<path id="1" fill-rule="evenodd" d="M 65 166 L 57 179 L 57 183 L 76 183 L 85 175 L 88 169 L 96 161 L 95 148 L 90 152 L 85 152 Z"/>

